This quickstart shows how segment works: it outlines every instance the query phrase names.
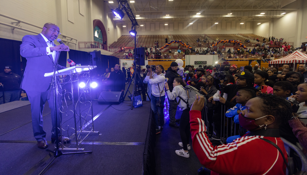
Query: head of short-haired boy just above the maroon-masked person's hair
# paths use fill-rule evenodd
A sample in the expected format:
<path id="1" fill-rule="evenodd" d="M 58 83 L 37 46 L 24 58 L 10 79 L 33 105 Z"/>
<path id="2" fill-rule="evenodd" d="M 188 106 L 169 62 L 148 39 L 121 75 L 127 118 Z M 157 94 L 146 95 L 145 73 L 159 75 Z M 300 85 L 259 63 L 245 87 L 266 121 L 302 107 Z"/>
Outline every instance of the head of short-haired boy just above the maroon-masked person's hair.
<path id="1" fill-rule="evenodd" d="M 293 91 L 293 85 L 288 81 L 278 81 L 273 86 L 273 94 L 287 98 L 291 96 L 291 92 Z"/>

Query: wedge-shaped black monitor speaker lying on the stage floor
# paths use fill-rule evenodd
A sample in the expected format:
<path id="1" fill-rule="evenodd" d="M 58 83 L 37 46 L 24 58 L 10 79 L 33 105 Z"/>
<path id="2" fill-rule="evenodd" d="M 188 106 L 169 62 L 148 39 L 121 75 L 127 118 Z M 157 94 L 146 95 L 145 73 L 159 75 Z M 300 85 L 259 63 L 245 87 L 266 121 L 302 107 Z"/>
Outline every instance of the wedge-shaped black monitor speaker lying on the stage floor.
<path id="1" fill-rule="evenodd" d="M 99 104 L 120 104 L 122 103 L 122 92 L 101 92 L 98 97 Z"/>

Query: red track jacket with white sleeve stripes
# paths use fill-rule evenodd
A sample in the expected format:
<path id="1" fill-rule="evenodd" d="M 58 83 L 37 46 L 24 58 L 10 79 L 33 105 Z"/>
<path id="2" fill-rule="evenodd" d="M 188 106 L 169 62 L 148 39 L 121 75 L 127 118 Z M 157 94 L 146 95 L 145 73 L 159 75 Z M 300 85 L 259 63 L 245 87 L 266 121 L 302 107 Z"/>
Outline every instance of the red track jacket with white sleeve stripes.
<path id="1" fill-rule="evenodd" d="M 286 165 L 279 151 L 270 143 L 259 139 L 266 138 L 274 142 L 287 157 L 279 137 L 243 136 L 227 145 L 212 146 L 205 133 L 206 126 L 200 111 L 190 111 L 190 125 L 193 150 L 200 163 L 211 169 L 211 175 L 286 174 Z"/>

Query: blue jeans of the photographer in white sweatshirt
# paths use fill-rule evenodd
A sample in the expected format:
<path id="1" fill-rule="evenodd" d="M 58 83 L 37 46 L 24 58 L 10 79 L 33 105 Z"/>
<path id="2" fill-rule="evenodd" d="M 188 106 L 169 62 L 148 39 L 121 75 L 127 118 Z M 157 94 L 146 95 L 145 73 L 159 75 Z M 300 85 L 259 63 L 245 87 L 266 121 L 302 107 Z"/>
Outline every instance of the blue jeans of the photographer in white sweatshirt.
<path id="1" fill-rule="evenodd" d="M 156 126 L 156 129 L 159 129 L 158 126 L 163 126 L 164 125 L 164 113 L 163 113 L 163 108 L 164 108 L 164 101 L 165 101 L 165 95 L 161 96 L 161 106 L 157 107 L 157 101 L 159 101 L 160 97 L 155 97 L 151 95 L 150 98 L 150 104 L 151 104 L 151 109 L 153 110 L 153 119 L 154 119 L 154 124 Z M 160 124 L 158 122 L 158 113 L 160 115 Z"/>

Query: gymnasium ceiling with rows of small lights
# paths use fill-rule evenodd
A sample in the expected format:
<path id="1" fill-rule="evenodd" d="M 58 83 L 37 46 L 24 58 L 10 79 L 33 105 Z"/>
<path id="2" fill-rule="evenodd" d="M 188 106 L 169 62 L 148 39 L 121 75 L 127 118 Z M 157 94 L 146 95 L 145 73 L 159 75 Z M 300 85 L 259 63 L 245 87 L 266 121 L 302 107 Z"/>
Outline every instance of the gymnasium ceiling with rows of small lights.
<path id="1" fill-rule="evenodd" d="M 109 3 L 113 1 L 113 3 Z M 269 21 L 282 17 L 297 9 L 284 6 L 295 0 L 134 0 L 129 5 L 138 23 L 173 22 L 173 21 Z M 105 0 L 108 8 L 118 6 L 116 0 Z M 111 13 L 111 12 L 110 12 Z M 200 14 L 196 14 L 200 13 Z M 264 13 L 264 14 L 260 14 Z M 113 15 L 117 23 L 127 23 L 130 19 L 120 20 Z"/>

